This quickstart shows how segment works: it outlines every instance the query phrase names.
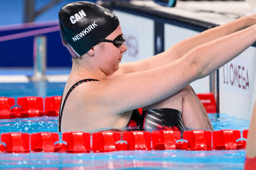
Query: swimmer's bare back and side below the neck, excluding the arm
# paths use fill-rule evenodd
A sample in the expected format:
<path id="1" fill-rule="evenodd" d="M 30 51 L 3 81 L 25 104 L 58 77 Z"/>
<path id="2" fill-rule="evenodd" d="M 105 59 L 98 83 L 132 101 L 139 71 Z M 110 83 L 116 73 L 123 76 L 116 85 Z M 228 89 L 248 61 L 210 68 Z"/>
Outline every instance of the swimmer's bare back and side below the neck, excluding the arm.
<path id="1" fill-rule="evenodd" d="M 61 124 L 59 130 L 65 132 L 92 131 L 109 127 L 125 128 L 132 111 L 114 113 L 107 105 L 99 106 L 97 104 L 97 98 L 100 98 L 100 96 L 95 96 L 99 93 L 94 91 L 94 87 L 104 80 L 86 81 L 74 87 L 72 92 L 69 92 L 70 88 L 80 80 L 82 79 L 78 79 L 77 76 L 75 78 L 69 77 L 66 83 L 61 108 L 67 93 L 69 93 L 69 96 L 64 104 L 63 111 L 60 111 Z"/>

